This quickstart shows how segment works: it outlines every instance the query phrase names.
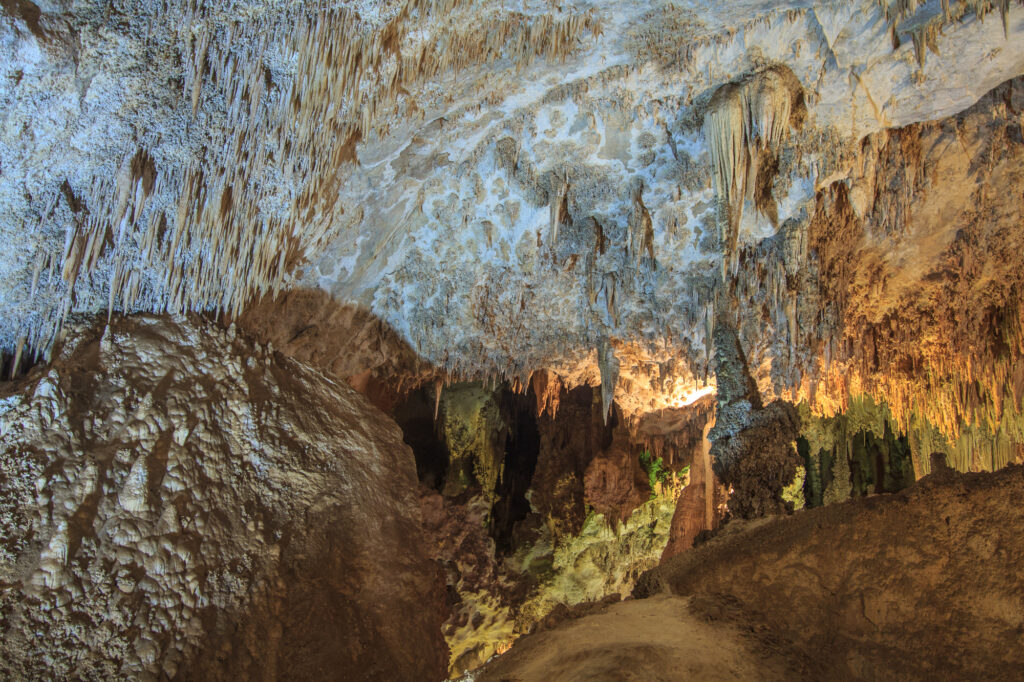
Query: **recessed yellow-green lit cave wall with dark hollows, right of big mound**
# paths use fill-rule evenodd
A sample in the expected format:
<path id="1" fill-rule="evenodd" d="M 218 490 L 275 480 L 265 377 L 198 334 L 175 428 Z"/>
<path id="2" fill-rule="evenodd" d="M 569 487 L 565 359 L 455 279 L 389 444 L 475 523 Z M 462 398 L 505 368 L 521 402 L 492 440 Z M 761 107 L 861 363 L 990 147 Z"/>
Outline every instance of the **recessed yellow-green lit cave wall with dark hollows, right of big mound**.
<path id="1" fill-rule="evenodd" d="M 549 380 L 431 384 L 395 409 L 446 583 L 452 676 L 559 608 L 629 593 L 690 487 L 710 401 L 636 424 L 612 406 L 605 422 L 596 387 Z"/>

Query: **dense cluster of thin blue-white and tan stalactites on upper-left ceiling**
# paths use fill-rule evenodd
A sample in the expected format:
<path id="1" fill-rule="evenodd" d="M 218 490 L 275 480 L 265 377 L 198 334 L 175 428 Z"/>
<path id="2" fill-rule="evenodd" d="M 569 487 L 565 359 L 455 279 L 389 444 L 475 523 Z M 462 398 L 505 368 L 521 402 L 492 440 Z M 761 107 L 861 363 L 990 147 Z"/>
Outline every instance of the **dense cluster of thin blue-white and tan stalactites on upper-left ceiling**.
<path id="1" fill-rule="evenodd" d="M 223 125 L 209 131 L 214 141 L 202 159 L 162 167 L 156 150 L 131 148 L 118 173 L 97 171 L 91 186 L 76 188 L 80 197 L 66 188 L 75 220 L 62 252 L 36 255 L 33 284 L 33 293 L 48 287 L 59 303 L 25 330 L 19 347 L 49 347 L 73 311 L 76 283 L 100 271 L 110 272 L 109 312 L 237 315 L 280 291 L 331 238 L 345 213 L 337 198 L 356 142 L 385 134 L 397 100 L 417 83 L 499 58 L 516 66 L 563 58 L 600 33 L 593 11 L 483 8 L 482 20 L 459 22 L 456 10 L 480 9 L 470 5 L 408 0 L 379 27 L 347 9 L 291 6 L 224 20 L 195 0 L 161 5 L 148 23 L 164 28 L 182 56 L 185 116 L 223 101 Z M 424 29 L 432 40 L 409 47 L 407 36 Z M 278 51 L 296 56 L 287 83 L 268 76 L 267 55 Z M 285 179 L 296 187 L 281 204 Z M 54 188 L 54 204 L 60 196 Z"/>

